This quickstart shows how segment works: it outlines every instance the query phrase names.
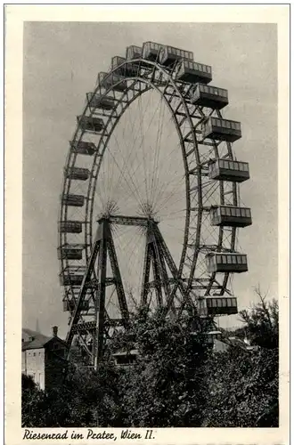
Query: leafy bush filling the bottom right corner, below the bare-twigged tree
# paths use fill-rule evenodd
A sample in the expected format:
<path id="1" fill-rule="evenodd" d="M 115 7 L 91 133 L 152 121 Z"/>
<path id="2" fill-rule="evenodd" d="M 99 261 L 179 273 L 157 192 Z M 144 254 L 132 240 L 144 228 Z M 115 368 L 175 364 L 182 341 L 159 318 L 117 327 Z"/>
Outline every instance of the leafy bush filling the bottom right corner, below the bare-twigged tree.
<path id="1" fill-rule="evenodd" d="M 278 426 L 279 360 L 277 350 L 246 352 L 231 348 L 207 364 L 203 426 Z"/>

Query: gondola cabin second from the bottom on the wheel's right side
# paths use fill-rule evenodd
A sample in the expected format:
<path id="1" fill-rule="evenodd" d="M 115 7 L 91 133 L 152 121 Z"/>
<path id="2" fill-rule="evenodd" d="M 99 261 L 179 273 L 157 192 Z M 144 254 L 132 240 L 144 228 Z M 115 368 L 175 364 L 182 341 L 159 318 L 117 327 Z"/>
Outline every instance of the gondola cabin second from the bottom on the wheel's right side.
<path id="1" fill-rule="evenodd" d="M 206 255 L 206 262 L 209 273 L 248 271 L 247 255 L 245 254 L 211 252 Z"/>

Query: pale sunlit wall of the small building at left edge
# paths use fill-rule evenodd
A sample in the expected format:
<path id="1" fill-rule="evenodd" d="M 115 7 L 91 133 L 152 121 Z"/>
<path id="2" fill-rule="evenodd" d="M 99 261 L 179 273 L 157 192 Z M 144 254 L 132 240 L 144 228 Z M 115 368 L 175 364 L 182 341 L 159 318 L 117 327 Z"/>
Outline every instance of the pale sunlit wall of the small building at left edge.
<path id="1" fill-rule="evenodd" d="M 45 349 L 28 349 L 21 354 L 21 372 L 32 376 L 40 389 L 45 389 Z"/>

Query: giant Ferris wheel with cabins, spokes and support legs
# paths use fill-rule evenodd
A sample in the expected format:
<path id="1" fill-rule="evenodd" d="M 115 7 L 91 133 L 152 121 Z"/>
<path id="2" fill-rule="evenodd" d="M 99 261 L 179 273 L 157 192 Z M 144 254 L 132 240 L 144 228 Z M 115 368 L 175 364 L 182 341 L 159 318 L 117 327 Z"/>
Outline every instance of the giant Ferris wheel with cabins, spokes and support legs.
<path id="1" fill-rule="evenodd" d="M 97 366 L 105 342 L 144 306 L 237 313 L 232 275 L 248 270 L 237 231 L 251 224 L 249 179 L 222 117 L 224 88 L 193 53 L 146 42 L 111 59 L 78 116 L 59 219 L 67 341 Z"/>

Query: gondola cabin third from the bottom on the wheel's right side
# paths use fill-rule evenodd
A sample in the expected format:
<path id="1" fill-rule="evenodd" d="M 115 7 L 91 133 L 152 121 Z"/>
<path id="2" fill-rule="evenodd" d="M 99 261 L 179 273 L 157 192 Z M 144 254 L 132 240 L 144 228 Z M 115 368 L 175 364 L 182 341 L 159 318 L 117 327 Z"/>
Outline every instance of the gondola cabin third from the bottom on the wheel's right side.
<path id="1" fill-rule="evenodd" d="M 247 227 L 252 224 L 251 211 L 246 207 L 211 206 L 209 213 L 213 226 Z"/>

